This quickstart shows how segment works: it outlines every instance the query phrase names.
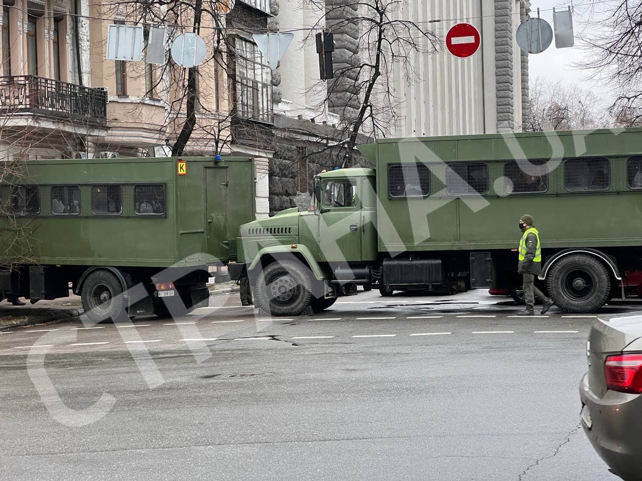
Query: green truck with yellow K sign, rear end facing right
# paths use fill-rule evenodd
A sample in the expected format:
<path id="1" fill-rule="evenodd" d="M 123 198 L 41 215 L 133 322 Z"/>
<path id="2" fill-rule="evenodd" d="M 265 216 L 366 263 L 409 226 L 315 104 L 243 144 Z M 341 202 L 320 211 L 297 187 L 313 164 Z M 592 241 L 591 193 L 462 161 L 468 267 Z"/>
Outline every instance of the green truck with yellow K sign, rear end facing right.
<path id="1" fill-rule="evenodd" d="M 0 298 L 80 294 L 93 321 L 207 305 L 255 219 L 251 158 L 26 162 L 0 185 Z"/>

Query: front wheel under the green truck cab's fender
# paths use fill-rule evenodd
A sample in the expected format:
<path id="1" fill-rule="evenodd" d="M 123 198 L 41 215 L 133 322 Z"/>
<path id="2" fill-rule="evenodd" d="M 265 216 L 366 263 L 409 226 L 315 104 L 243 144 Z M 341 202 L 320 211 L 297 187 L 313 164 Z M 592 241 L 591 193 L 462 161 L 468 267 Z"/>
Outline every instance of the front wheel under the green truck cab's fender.
<path id="1" fill-rule="evenodd" d="M 308 267 L 293 260 L 278 260 L 259 274 L 254 286 L 257 308 L 272 316 L 299 316 L 313 300 Z"/>

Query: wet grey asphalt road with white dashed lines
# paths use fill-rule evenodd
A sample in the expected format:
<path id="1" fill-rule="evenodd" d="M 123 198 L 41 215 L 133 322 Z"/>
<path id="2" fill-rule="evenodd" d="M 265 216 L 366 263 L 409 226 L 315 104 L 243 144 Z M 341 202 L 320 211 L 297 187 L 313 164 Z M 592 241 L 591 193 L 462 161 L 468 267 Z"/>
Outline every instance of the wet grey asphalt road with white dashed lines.
<path id="1" fill-rule="evenodd" d="M 0 333 L 0 479 L 615 480 L 578 421 L 594 315 L 483 292 L 293 319 L 213 301 Z"/>

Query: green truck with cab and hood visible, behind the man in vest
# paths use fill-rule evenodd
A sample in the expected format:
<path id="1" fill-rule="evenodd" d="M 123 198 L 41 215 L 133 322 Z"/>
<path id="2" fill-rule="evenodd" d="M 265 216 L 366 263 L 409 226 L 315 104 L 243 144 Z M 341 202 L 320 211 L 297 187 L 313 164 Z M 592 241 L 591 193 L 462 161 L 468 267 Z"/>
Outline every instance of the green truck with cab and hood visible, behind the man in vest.
<path id="1" fill-rule="evenodd" d="M 624 274 L 642 270 L 640 128 L 384 139 L 360 151 L 372 169 L 316 176 L 308 212 L 241 226 L 238 262 L 266 312 L 317 312 L 356 285 L 519 292 L 525 213 L 541 232 L 541 283 L 566 312 L 623 296 Z"/>

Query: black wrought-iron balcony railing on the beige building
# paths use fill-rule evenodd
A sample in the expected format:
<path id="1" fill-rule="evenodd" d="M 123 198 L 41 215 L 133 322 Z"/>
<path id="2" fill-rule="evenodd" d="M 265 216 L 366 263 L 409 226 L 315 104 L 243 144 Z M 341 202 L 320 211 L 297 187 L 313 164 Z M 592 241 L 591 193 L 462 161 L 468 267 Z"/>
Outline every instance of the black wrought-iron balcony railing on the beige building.
<path id="1" fill-rule="evenodd" d="M 103 126 L 107 123 L 107 90 L 33 75 L 0 77 L 0 114 L 33 114 Z"/>

